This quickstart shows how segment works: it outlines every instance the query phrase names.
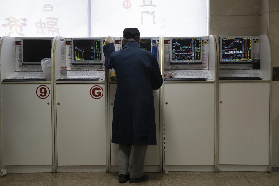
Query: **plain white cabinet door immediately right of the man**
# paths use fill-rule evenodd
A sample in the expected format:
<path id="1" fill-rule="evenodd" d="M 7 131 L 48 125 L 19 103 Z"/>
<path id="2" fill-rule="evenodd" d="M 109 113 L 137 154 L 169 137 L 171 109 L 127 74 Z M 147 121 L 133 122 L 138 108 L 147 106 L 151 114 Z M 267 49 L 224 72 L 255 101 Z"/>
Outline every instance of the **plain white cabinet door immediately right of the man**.
<path id="1" fill-rule="evenodd" d="M 165 83 L 164 94 L 165 165 L 214 165 L 214 83 Z"/>

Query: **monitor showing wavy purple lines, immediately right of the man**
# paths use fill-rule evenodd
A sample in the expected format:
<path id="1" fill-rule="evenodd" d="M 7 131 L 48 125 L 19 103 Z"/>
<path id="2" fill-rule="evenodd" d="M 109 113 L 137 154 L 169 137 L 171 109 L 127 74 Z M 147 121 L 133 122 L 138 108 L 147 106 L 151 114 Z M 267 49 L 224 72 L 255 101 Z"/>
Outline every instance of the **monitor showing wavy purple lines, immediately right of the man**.
<path id="1" fill-rule="evenodd" d="M 201 37 L 171 37 L 172 64 L 201 64 Z"/>

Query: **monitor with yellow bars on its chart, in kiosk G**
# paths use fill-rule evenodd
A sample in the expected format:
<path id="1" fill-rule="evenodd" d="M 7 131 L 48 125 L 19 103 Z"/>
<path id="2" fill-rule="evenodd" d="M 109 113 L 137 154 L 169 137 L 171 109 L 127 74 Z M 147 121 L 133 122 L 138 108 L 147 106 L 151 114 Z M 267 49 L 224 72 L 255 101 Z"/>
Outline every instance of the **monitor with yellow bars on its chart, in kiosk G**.
<path id="1" fill-rule="evenodd" d="M 103 38 L 72 38 L 72 65 L 102 65 Z"/>

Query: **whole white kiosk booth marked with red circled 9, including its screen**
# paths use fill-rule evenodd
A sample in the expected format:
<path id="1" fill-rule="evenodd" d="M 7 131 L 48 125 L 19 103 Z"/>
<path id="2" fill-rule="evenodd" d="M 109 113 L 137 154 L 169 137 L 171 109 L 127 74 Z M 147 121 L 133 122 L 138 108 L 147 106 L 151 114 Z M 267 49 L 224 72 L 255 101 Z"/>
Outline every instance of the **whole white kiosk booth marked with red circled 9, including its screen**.
<path id="1" fill-rule="evenodd" d="M 52 81 L 40 65 L 54 41 L 1 38 L 1 166 L 9 173 L 54 171 Z"/>

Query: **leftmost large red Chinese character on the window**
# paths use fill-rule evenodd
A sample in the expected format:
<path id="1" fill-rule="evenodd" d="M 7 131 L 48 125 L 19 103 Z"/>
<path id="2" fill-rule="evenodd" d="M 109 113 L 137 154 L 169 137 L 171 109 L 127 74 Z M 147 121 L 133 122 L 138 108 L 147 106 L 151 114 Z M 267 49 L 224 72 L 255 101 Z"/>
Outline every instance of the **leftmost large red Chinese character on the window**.
<path id="1" fill-rule="evenodd" d="M 10 32 L 5 33 L 7 36 L 11 36 L 12 34 L 14 34 L 15 32 L 19 35 L 19 36 L 24 36 L 25 34 L 20 33 L 22 32 L 22 28 L 23 26 L 26 26 L 26 23 L 21 23 L 22 22 L 26 22 L 26 18 L 20 18 L 20 19 L 16 19 L 12 16 L 10 16 L 9 18 L 6 18 L 5 20 L 8 21 L 8 23 L 6 24 L 2 24 L 3 27 L 7 27 L 10 26 Z M 20 28 L 20 32 L 18 30 L 18 28 Z"/>

